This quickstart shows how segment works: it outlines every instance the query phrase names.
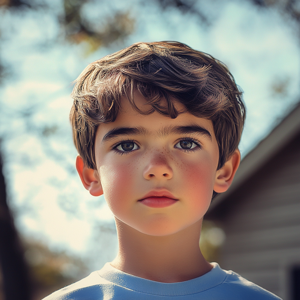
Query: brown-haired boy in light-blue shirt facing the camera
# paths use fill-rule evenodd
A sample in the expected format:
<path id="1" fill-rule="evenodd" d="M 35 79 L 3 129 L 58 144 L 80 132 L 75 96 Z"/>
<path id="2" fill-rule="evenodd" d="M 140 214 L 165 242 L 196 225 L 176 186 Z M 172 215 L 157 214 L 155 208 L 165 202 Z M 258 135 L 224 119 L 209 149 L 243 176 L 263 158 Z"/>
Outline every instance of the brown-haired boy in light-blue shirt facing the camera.
<path id="1" fill-rule="evenodd" d="M 224 64 L 177 42 L 136 43 L 89 64 L 72 97 L 76 169 L 104 193 L 119 253 L 45 299 L 279 299 L 199 249 L 212 196 L 240 162 L 245 109 Z"/>

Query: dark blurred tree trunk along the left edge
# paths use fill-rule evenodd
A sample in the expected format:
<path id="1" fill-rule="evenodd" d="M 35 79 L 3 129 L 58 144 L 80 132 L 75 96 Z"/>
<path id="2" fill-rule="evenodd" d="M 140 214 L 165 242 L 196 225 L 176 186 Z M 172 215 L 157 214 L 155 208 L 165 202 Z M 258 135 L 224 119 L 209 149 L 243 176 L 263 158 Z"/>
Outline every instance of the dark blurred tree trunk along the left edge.
<path id="1" fill-rule="evenodd" d="M 22 246 L 7 206 L 5 181 L 0 156 L 0 265 L 6 300 L 29 300 L 27 266 Z"/>

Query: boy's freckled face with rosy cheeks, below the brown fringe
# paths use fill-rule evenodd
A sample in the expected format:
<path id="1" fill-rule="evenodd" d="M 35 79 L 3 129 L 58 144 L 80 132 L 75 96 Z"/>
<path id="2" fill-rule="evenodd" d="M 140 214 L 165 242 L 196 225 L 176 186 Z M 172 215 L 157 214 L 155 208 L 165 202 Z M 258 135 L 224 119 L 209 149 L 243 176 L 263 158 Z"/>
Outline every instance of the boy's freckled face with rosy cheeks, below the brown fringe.
<path id="1" fill-rule="evenodd" d="M 149 108 L 141 95 L 135 102 Z M 156 112 L 141 115 L 126 98 L 122 107 L 115 122 L 99 126 L 95 140 L 99 179 L 115 217 L 157 236 L 200 220 L 217 177 L 212 122 L 188 113 L 176 119 Z"/>

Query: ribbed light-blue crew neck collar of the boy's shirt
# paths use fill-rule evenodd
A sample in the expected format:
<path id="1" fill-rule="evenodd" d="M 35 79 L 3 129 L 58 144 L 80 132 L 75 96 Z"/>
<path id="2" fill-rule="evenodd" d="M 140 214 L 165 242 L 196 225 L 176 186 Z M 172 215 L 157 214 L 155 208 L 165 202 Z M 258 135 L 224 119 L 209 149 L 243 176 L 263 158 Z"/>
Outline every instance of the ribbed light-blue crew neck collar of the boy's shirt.
<path id="1" fill-rule="evenodd" d="M 161 296 L 183 296 L 203 292 L 221 284 L 226 278 L 226 272 L 216 262 L 213 268 L 200 277 L 182 282 L 164 283 L 137 277 L 122 272 L 107 262 L 98 274 L 107 281 L 126 289 Z"/>

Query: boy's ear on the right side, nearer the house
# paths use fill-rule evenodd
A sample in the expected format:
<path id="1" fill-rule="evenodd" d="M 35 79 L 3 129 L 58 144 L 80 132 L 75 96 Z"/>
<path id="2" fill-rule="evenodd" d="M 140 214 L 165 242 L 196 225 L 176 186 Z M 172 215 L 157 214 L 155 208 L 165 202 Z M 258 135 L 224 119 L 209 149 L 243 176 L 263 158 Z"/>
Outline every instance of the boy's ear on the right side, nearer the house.
<path id="1" fill-rule="evenodd" d="M 238 149 L 233 152 L 230 158 L 226 161 L 224 166 L 217 170 L 216 178 L 214 181 L 214 191 L 223 193 L 230 187 L 236 170 L 241 161 L 241 154 Z"/>

